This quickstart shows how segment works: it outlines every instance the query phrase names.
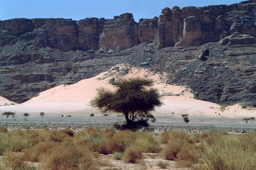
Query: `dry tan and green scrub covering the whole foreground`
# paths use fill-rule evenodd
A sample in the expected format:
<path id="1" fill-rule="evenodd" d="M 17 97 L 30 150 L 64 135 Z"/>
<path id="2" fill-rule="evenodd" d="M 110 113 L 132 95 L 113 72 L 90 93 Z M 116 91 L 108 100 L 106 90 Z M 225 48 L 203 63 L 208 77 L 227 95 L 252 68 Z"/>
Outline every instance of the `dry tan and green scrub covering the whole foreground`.
<path id="1" fill-rule="evenodd" d="M 167 131 L 158 135 L 150 131 L 99 128 L 80 132 L 68 128 L 59 131 L 0 128 L 0 155 L 3 156 L 0 168 L 99 170 L 110 167 L 109 160 L 102 159 L 100 154 L 113 154 L 115 160 L 145 167 L 142 153 L 160 152 L 164 160 L 177 161 L 178 167 L 190 167 L 190 170 L 255 170 L 255 144 L 256 132 L 237 135 L 213 131 L 190 135 Z M 156 165 L 168 168 L 168 161 L 164 160 Z M 38 162 L 39 167 L 28 162 Z"/>

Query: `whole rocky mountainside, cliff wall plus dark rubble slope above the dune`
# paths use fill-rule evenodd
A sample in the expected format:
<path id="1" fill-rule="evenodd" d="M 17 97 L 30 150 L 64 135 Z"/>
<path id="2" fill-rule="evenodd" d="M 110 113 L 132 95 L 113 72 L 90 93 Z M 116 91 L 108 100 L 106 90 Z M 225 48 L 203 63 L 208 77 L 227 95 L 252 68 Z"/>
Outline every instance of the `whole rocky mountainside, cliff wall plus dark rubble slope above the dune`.
<path id="1" fill-rule="evenodd" d="M 197 99 L 256 107 L 255 26 L 256 0 L 174 6 L 138 23 L 131 13 L 0 21 L 0 96 L 23 103 L 125 63 L 165 72 Z"/>

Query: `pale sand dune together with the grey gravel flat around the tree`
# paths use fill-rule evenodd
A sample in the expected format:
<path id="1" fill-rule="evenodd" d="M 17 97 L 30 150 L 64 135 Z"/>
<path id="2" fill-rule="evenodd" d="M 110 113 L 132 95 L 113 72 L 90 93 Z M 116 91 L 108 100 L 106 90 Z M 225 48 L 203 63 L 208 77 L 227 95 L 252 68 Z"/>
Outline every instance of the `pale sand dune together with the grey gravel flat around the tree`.
<path id="1" fill-rule="evenodd" d="M 121 70 L 129 69 L 129 74 Z M 155 73 L 148 69 L 116 65 L 109 71 L 96 77 L 81 80 L 72 85 L 60 85 L 46 90 L 29 101 L 16 104 L 3 97 L 0 98 L 0 112 L 16 112 L 15 118 L 8 119 L 1 115 L 0 126 L 8 128 L 73 128 L 111 127 L 115 122 L 124 121 L 124 117 L 115 113 L 108 117 L 89 106 L 90 100 L 96 95 L 99 87 L 114 90 L 109 83 L 121 78 L 144 77 L 155 81 L 154 88 L 158 88 L 163 96 L 164 105 L 157 108 L 153 115 L 157 118 L 150 123 L 156 131 L 183 129 L 187 132 L 205 132 L 214 128 L 224 128 L 230 132 L 254 131 L 255 124 L 246 124 L 243 118 L 254 117 L 255 108 L 243 109 L 239 103 L 234 106 L 220 106 L 216 103 L 194 99 L 193 92 L 186 88 L 166 84 L 166 75 Z M 30 116 L 24 120 L 24 113 Z M 41 118 L 39 112 L 44 112 Z M 95 117 L 90 117 L 90 114 Z M 189 123 L 184 123 L 182 114 L 189 114 Z M 61 117 L 63 115 L 64 117 Z M 72 117 L 66 117 L 71 115 Z"/>

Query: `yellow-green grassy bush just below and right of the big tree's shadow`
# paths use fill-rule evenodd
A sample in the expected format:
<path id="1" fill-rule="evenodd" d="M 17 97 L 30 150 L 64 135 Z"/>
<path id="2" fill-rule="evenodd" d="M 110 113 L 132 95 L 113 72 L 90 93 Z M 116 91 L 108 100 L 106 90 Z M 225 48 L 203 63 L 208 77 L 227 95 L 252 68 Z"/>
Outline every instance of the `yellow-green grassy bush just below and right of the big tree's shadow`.
<path id="1" fill-rule="evenodd" d="M 159 153 L 161 151 L 160 138 L 153 132 L 140 133 L 134 144 L 147 153 Z"/>

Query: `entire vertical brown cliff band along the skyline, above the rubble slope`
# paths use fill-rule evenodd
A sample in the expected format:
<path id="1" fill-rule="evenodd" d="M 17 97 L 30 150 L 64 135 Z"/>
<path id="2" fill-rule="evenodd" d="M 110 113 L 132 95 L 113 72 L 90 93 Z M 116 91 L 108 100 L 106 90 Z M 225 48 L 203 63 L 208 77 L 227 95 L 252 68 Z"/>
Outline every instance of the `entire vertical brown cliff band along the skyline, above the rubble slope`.
<path id="1" fill-rule="evenodd" d="M 131 13 L 114 19 L 10 19 L 0 21 L 0 46 L 18 40 L 36 47 L 61 51 L 71 49 L 120 51 L 157 38 L 158 48 L 188 47 L 219 42 L 234 32 L 256 36 L 256 0 L 232 5 L 204 7 L 174 6 L 164 8 L 162 15 L 140 19 Z"/>

